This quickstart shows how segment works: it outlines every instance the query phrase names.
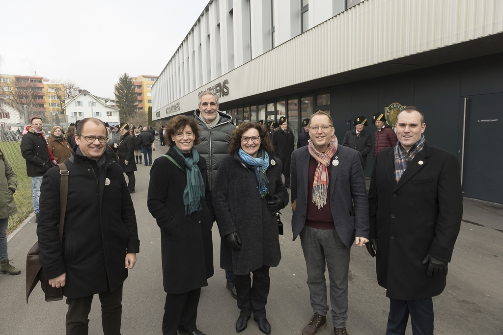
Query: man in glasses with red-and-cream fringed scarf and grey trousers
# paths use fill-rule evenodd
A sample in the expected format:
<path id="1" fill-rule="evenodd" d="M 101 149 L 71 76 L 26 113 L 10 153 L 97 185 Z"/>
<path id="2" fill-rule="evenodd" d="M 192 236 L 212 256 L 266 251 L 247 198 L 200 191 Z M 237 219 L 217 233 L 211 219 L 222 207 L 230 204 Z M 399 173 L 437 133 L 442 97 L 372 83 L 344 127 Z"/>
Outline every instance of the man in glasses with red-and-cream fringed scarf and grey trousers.
<path id="1" fill-rule="evenodd" d="M 353 242 L 368 242 L 369 216 L 362 155 L 338 145 L 332 119 L 317 111 L 309 121 L 308 145 L 292 154 L 292 231 L 307 268 L 313 315 L 302 335 L 326 325 L 325 263 L 330 280 L 333 332 L 347 335 L 348 273 Z"/>

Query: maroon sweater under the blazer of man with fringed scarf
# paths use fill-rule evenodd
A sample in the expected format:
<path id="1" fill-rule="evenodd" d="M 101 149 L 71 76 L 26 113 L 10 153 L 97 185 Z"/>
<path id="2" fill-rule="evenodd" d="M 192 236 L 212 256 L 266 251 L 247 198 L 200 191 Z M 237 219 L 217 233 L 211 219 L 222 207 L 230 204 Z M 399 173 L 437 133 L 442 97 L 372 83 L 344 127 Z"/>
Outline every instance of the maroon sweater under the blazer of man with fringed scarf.
<path id="1" fill-rule="evenodd" d="M 326 194 L 326 204 L 318 209 L 318 206 L 313 202 L 313 183 L 314 173 L 318 167 L 318 162 L 309 156 L 309 173 L 307 176 L 307 209 L 306 209 L 306 226 L 317 229 L 335 229 L 333 226 L 332 211 L 330 210 L 330 183 L 328 183 L 328 190 Z M 332 170 L 332 164 L 326 168 L 328 176 Z M 328 178 L 330 182 L 330 178 Z"/>

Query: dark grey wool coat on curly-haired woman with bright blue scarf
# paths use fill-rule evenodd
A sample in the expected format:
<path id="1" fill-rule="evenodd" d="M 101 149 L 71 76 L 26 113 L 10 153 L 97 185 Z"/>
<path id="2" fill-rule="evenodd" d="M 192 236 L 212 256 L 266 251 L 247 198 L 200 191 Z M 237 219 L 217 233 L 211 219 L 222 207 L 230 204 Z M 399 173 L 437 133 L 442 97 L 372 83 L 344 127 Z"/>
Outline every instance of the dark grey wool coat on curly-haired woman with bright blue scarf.
<path id="1" fill-rule="evenodd" d="M 281 179 L 281 161 L 272 154 L 269 157 L 269 193 L 280 197 L 286 206 L 288 191 Z M 261 197 L 258 185 L 255 170 L 243 166 L 237 154 L 222 159 L 213 185 L 213 204 L 222 238 L 220 267 L 236 275 L 262 266 L 277 266 L 281 260 L 278 220 L 267 209 L 267 200 Z M 239 234 L 241 250 L 227 244 L 225 236 L 232 232 Z"/>

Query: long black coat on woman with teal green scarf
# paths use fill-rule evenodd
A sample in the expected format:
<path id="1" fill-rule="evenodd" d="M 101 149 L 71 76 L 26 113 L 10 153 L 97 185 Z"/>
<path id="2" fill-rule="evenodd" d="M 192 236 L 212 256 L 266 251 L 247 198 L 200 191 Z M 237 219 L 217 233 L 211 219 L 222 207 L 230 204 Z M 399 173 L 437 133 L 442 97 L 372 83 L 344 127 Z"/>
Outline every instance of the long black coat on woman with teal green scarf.
<path id="1" fill-rule="evenodd" d="M 184 159 L 175 146 L 167 155 L 185 168 Z M 161 258 L 164 291 L 180 294 L 207 286 L 213 276 L 213 240 L 211 227 L 214 214 L 208 187 L 206 160 L 199 156 L 197 163 L 206 187 L 201 199 L 202 210 L 185 215 L 183 193 L 187 174 L 168 158 L 154 160 L 150 169 L 147 206 L 160 228 Z"/>

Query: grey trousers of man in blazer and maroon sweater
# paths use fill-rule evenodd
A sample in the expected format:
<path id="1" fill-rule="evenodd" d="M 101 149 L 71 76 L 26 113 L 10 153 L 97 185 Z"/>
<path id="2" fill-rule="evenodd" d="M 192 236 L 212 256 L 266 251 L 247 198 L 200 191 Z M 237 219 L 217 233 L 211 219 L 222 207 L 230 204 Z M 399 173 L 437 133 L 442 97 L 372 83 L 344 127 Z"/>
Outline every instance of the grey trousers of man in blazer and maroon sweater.
<path id="1" fill-rule="evenodd" d="M 328 313 L 325 263 L 330 281 L 330 304 L 334 327 L 346 326 L 348 319 L 348 272 L 351 248 L 347 248 L 335 229 L 304 226 L 300 243 L 307 268 L 307 286 L 313 313 Z"/>

